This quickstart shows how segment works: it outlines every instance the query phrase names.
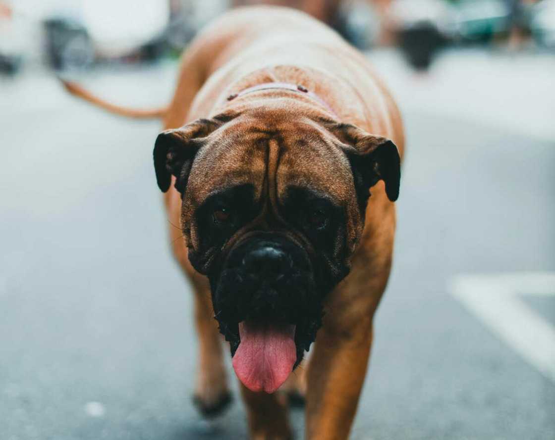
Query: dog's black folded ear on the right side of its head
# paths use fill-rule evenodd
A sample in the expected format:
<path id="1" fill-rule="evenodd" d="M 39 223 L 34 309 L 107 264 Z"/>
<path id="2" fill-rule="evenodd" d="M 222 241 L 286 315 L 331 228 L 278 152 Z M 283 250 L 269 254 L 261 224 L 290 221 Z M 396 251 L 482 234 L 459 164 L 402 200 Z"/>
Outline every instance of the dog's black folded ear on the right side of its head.
<path id="1" fill-rule="evenodd" d="M 387 197 L 395 202 L 401 180 L 397 146 L 386 137 L 372 135 L 354 125 L 327 124 L 326 128 L 344 144 L 342 148 L 351 162 L 359 203 L 366 206 L 369 189 L 379 180 L 385 182 Z"/>

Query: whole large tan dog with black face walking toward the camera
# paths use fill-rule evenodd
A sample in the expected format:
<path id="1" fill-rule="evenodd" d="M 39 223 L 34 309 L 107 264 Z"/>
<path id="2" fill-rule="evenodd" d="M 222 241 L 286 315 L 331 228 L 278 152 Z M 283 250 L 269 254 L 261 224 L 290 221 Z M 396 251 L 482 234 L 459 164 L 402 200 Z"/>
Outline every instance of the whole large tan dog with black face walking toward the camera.
<path id="1" fill-rule="evenodd" d="M 346 439 L 391 267 L 404 140 L 390 95 L 325 25 L 236 9 L 186 51 L 164 125 L 154 163 L 195 294 L 200 410 L 229 401 L 221 332 L 252 438 L 290 437 L 286 381 L 306 385 L 307 439 Z"/>

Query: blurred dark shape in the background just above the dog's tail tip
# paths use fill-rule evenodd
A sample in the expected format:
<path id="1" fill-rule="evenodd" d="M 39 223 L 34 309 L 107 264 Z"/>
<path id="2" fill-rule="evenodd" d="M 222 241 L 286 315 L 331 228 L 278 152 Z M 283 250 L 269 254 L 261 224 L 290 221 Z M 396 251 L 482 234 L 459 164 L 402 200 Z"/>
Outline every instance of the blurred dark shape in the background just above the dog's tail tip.
<path id="1" fill-rule="evenodd" d="M 67 17 L 52 17 L 44 20 L 43 26 L 48 62 L 54 69 L 83 69 L 92 65 L 93 42 L 82 24 Z"/>

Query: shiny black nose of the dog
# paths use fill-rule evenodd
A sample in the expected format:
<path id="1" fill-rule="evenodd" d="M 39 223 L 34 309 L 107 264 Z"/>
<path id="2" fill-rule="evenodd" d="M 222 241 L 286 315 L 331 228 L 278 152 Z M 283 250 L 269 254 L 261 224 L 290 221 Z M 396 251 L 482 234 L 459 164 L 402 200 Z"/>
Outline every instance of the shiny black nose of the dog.
<path id="1" fill-rule="evenodd" d="M 265 245 L 245 255 L 243 268 L 249 275 L 275 280 L 291 268 L 291 259 L 281 249 Z"/>

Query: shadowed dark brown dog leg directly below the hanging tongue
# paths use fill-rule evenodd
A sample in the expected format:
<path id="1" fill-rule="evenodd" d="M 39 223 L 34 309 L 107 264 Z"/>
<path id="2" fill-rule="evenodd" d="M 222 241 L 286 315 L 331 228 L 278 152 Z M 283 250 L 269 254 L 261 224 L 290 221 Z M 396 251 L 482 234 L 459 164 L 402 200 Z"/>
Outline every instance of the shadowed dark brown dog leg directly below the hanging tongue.
<path id="1" fill-rule="evenodd" d="M 241 383 L 251 440 L 291 440 L 287 396 L 276 392 L 253 392 Z"/>

